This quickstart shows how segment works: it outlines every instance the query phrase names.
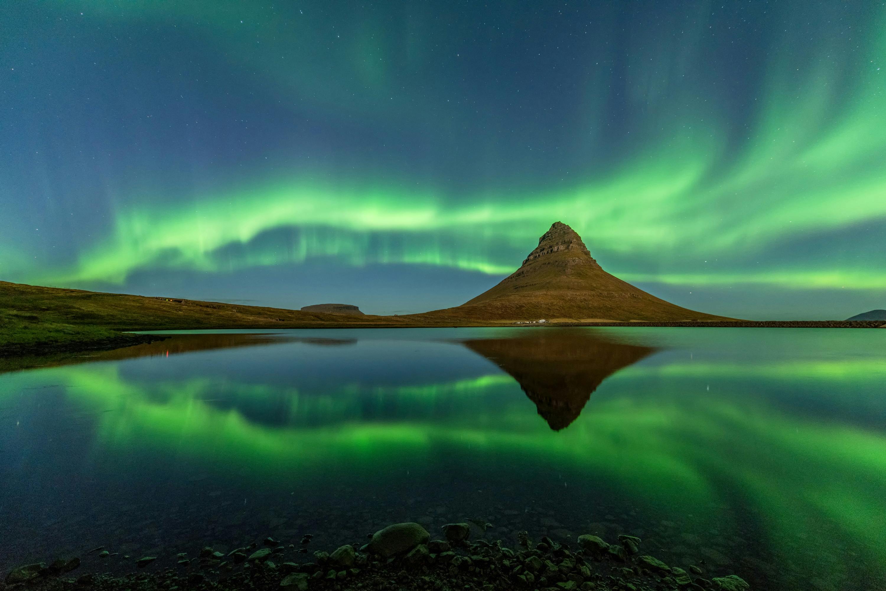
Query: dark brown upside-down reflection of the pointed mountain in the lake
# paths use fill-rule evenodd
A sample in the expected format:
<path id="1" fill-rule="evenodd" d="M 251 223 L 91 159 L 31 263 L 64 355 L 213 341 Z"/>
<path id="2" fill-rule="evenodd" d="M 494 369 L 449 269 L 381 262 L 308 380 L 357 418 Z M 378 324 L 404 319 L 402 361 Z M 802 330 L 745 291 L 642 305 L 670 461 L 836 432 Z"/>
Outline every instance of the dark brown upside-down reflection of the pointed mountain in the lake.
<path id="1" fill-rule="evenodd" d="M 464 345 L 513 376 L 554 431 L 578 418 L 604 379 L 655 351 L 584 331 L 532 330 L 532 336 L 478 338 Z"/>

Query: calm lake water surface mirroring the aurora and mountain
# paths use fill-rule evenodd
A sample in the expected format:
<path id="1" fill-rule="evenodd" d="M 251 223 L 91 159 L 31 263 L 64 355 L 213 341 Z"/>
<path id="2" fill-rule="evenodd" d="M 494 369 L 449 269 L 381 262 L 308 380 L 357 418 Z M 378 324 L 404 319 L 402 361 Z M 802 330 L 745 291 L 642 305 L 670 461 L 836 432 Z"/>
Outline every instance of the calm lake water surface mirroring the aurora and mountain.
<path id="1" fill-rule="evenodd" d="M 0 374 L 3 569 L 476 518 L 886 588 L 886 330 L 204 332 L 47 363 Z"/>

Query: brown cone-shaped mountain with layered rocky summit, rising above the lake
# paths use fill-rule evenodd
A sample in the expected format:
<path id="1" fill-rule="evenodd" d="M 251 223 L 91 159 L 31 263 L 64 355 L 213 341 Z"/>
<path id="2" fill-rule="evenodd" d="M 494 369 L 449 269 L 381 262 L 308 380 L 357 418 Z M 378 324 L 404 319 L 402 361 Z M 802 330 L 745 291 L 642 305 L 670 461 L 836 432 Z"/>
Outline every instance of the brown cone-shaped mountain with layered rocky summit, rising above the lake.
<path id="1" fill-rule="evenodd" d="M 562 222 L 554 223 L 523 265 L 500 284 L 462 306 L 429 315 L 513 322 L 727 320 L 675 306 L 610 275 Z"/>

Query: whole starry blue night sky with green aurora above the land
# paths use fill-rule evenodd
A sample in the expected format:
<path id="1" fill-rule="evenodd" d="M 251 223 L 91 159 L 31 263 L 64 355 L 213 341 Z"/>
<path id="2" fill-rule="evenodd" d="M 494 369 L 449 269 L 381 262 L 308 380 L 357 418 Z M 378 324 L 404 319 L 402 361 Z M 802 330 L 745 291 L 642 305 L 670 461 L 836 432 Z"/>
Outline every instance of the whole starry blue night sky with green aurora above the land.
<path id="1" fill-rule="evenodd" d="M 0 279 L 421 312 L 556 221 L 681 306 L 886 307 L 886 3 L 0 6 Z"/>

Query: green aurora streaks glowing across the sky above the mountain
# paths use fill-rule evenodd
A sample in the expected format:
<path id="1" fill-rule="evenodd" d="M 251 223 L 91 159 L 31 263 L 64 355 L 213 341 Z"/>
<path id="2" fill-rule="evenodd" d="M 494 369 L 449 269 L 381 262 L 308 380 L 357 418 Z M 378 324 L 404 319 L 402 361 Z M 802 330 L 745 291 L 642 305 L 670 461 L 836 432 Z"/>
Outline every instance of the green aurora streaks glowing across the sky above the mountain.
<path id="1" fill-rule="evenodd" d="M 368 42 L 376 39 L 371 22 L 356 45 L 341 50 L 343 77 L 371 89 L 363 100 L 349 101 L 310 60 L 283 67 L 268 58 L 291 55 L 287 43 L 304 50 L 307 33 L 305 40 L 278 40 L 271 51 L 259 52 L 231 24 L 234 4 L 219 4 L 209 17 L 202 3 L 142 2 L 122 13 L 112 4 L 102 9 L 107 19 L 198 23 L 234 64 L 258 66 L 277 96 L 312 97 L 316 109 L 328 112 L 367 109 L 382 120 L 420 117 L 415 105 L 384 106 L 381 97 L 396 82 L 385 70 L 385 44 Z M 256 176 L 253 183 L 196 199 L 120 196 L 109 233 L 76 253 L 75 261 L 38 269 L 22 255 L 7 264 L 13 276 L 46 284 L 121 284 L 145 269 L 229 272 L 323 257 L 357 266 L 408 263 L 501 275 L 517 267 L 550 222 L 563 220 L 592 253 L 621 261 L 609 270 L 633 282 L 882 290 L 886 276 L 872 267 L 864 245 L 844 260 L 803 253 L 789 263 L 766 258 L 786 242 L 886 220 L 884 30 L 881 8 L 851 40 L 831 35 L 810 47 L 799 33 L 783 32 L 780 43 L 802 43 L 807 53 L 786 51 L 769 60 L 742 137 L 725 123 L 717 97 L 673 90 L 671 116 L 649 109 L 638 121 L 648 141 L 633 156 L 608 171 L 589 163 L 571 186 L 523 183 L 454 195 L 394 172 L 369 179 L 336 167 L 315 175 L 275 171 L 268 173 L 271 180 Z M 851 45 L 858 47 L 851 63 L 829 58 Z M 381 52 L 378 59 L 369 59 L 373 51 Z M 652 92 L 649 68 L 638 68 L 643 74 L 630 81 L 629 99 Z M 593 111 L 600 100 L 588 97 L 588 117 L 602 117 Z M 756 255 L 763 262 L 750 265 Z M 699 272 L 701 259 L 719 262 Z"/>

